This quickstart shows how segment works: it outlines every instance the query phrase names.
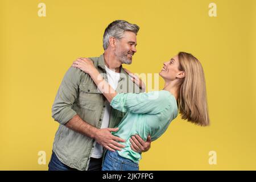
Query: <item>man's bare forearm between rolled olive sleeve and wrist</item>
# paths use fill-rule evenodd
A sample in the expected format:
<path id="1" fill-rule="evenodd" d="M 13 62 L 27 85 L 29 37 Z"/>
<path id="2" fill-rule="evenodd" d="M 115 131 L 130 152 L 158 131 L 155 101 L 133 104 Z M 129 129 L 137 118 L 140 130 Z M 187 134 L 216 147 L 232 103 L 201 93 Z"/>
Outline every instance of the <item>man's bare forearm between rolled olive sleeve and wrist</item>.
<path id="1" fill-rule="evenodd" d="M 85 135 L 86 137 L 95 138 L 97 128 L 89 125 L 85 121 L 83 121 L 79 115 L 75 115 L 72 119 L 70 119 L 65 126 L 69 129 L 74 130 L 78 133 Z"/>

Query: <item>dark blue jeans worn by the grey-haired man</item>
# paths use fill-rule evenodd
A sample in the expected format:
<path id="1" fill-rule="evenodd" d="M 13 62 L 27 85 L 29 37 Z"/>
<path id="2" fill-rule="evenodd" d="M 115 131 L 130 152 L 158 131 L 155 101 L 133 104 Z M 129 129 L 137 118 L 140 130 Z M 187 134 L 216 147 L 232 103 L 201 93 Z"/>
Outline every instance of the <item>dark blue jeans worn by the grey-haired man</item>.
<path id="1" fill-rule="evenodd" d="M 95 159 L 90 158 L 88 171 L 101 171 L 102 158 Z M 77 171 L 75 168 L 71 168 L 66 164 L 62 163 L 56 156 L 55 152 L 52 151 L 51 160 L 49 162 L 49 171 Z"/>

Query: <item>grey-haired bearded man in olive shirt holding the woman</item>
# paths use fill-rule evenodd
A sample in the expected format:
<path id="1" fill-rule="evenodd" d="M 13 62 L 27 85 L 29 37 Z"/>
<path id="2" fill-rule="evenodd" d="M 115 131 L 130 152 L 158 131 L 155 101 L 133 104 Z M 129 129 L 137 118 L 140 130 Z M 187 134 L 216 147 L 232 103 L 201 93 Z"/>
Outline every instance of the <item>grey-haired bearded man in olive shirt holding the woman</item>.
<path id="1" fill-rule="evenodd" d="M 122 68 L 131 64 L 137 45 L 139 27 L 124 20 L 109 24 L 104 32 L 104 54 L 90 58 L 94 66 L 117 92 L 141 92 Z M 132 88 L 132 89 L 131 89 Z M 98 92 L 92 78 L 80 69 L 69 68 L 52 106 L 52 117 L 60 123 L 53 142 L 49 170 L 101 170 L 105 149 L 121 150 L 118 142 L 125 140 L 112 135 L 113 128 L 125 116 L 112 109 Z M 131 148 L 144 152 L 150 148 L 150 137 L 144 142 L 135 135 Z"/>

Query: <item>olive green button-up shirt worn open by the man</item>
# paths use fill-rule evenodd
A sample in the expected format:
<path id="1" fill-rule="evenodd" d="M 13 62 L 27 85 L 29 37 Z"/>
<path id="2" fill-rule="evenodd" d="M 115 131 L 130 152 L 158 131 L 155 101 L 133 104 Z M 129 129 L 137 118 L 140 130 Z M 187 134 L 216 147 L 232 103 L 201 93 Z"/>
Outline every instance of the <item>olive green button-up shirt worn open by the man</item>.
<path id="1" fill-rule="evenodd" d="M 108 81 L 105 71 L 104 56 L 92 57 L 94 66 Z M 121 66 L 118 81 L 118 93 L 139 93 L 141 89 L 134 84 Z M 52 106 L 52 117 L 59 122 L 59 129 L 55 134 L 53 151 L 57 158 L 69 167 L 87 170 L 90 155 L 96 141 L 64 126 L 76 114 L 92 126 L 101 128 L 105 112 L 105 97 L 98 92 L 92 78 L 77 68 L 69 68 L 60 84 Z M 109 127 L 119 124 L 125 113 L 112 109 Z M 104 150 L 105 151 L 105 150 Z"/>

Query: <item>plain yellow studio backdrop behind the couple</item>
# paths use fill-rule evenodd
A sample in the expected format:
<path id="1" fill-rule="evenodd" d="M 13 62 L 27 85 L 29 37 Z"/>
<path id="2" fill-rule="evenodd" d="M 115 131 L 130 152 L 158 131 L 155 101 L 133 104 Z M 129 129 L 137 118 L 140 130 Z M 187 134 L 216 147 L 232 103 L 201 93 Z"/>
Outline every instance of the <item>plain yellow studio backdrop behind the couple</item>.
<path id="1" fill-rule="evenodd" d="M 210 3 L 217 16 L 209 15 Z M 133 64 L 125 65 L 130 71 L 159 73 L 185 51 L 201 61 L 207 81 L 211 125 L 179 115 L 142 155 L 140 169 L 255 170 L 255 6 L 254 0 L 1 0 L 0 169 L 48 169 L 59 126 L 51 107 L 65 72 L 77 57 L 101 55 L 106 26 L 124 19 L 141 28 Z M 46 164 L 38 163 L 39 151 Z"/>

